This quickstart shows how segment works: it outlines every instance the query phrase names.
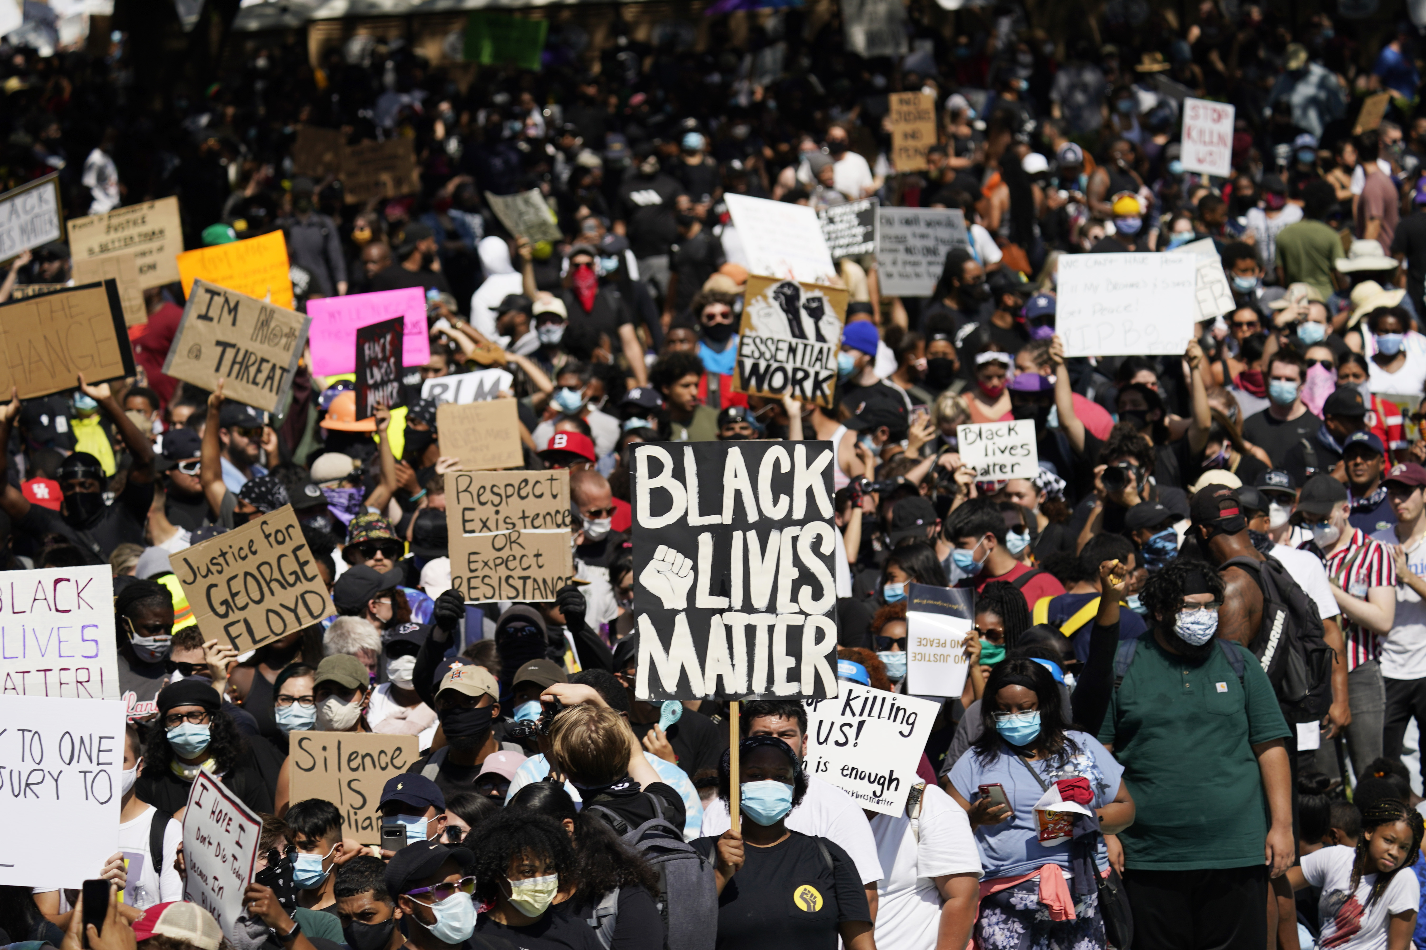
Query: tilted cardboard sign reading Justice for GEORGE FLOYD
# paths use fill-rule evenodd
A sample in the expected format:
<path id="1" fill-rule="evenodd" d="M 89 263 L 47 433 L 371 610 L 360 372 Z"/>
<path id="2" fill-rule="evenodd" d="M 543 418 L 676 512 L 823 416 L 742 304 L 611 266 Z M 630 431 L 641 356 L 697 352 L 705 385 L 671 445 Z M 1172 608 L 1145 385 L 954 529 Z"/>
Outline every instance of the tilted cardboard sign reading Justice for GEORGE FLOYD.
<path id="1" fill-rule="evenodd" d="M 289 504 L 170 560 L 204 640 L 240 654 L 337 612 Z"/>

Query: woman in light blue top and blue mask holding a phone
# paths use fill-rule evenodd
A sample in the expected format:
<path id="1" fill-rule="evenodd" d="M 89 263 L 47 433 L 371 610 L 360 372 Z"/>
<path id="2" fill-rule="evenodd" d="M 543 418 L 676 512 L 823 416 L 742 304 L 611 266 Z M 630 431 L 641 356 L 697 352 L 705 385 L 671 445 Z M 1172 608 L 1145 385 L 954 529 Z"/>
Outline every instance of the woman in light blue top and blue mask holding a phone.
<path id="1" fill-rule="evenodd" d="M 1134 800 L 1119 763 L 1094 736 L 1065 729 L 1061 706 L 1040 661 L 1005 659 L 985 684 L 984 732 L 950 773 L 985 869 L 983 950 L 1105 946 L 1104 835 L 1134 822 Z"/>

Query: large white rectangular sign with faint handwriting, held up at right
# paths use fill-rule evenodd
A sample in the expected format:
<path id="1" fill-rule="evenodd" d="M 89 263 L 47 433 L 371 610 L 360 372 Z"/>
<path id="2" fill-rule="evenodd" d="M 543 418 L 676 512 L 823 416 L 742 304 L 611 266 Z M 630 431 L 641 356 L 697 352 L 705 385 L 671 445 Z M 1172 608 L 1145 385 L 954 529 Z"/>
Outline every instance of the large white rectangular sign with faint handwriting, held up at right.
<path id="1" fill-rule="evenodd" d="M 1060 259 L 1055 332 L 1065 356 L 1182 353 L 1198 319 L 1188 254 L 1071 254 Z"/>

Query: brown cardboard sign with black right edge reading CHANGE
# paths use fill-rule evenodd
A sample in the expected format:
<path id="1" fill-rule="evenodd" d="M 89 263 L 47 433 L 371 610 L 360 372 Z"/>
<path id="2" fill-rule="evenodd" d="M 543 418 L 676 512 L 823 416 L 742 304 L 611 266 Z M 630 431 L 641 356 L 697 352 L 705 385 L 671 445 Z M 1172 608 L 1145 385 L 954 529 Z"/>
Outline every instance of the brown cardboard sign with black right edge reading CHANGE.
<path id="1" fill-rule="evenodd" d="M 0 306 L 0 393 L 20 399 L 134 375 L 124 309 L 113 281 L 64 288 Z"/>

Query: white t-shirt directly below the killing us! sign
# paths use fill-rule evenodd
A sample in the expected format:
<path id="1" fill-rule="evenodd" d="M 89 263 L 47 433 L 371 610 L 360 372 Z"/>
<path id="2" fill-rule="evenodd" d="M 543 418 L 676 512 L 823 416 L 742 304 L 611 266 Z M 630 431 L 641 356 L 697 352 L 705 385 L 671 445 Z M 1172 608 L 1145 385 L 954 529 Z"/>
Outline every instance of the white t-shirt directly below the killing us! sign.
<path id="1" fill-rule="evenodd" d="M 965 809 L 935 785 L 925 786 L 920 842 L 906 813 L 877 815 L 871 835 L 881 859 L 877 882 L 877 944 L 897 950 L 934 950 L 941 926 L 941 894 L 933 877 L 981 875 L 980 852 Z"/>

